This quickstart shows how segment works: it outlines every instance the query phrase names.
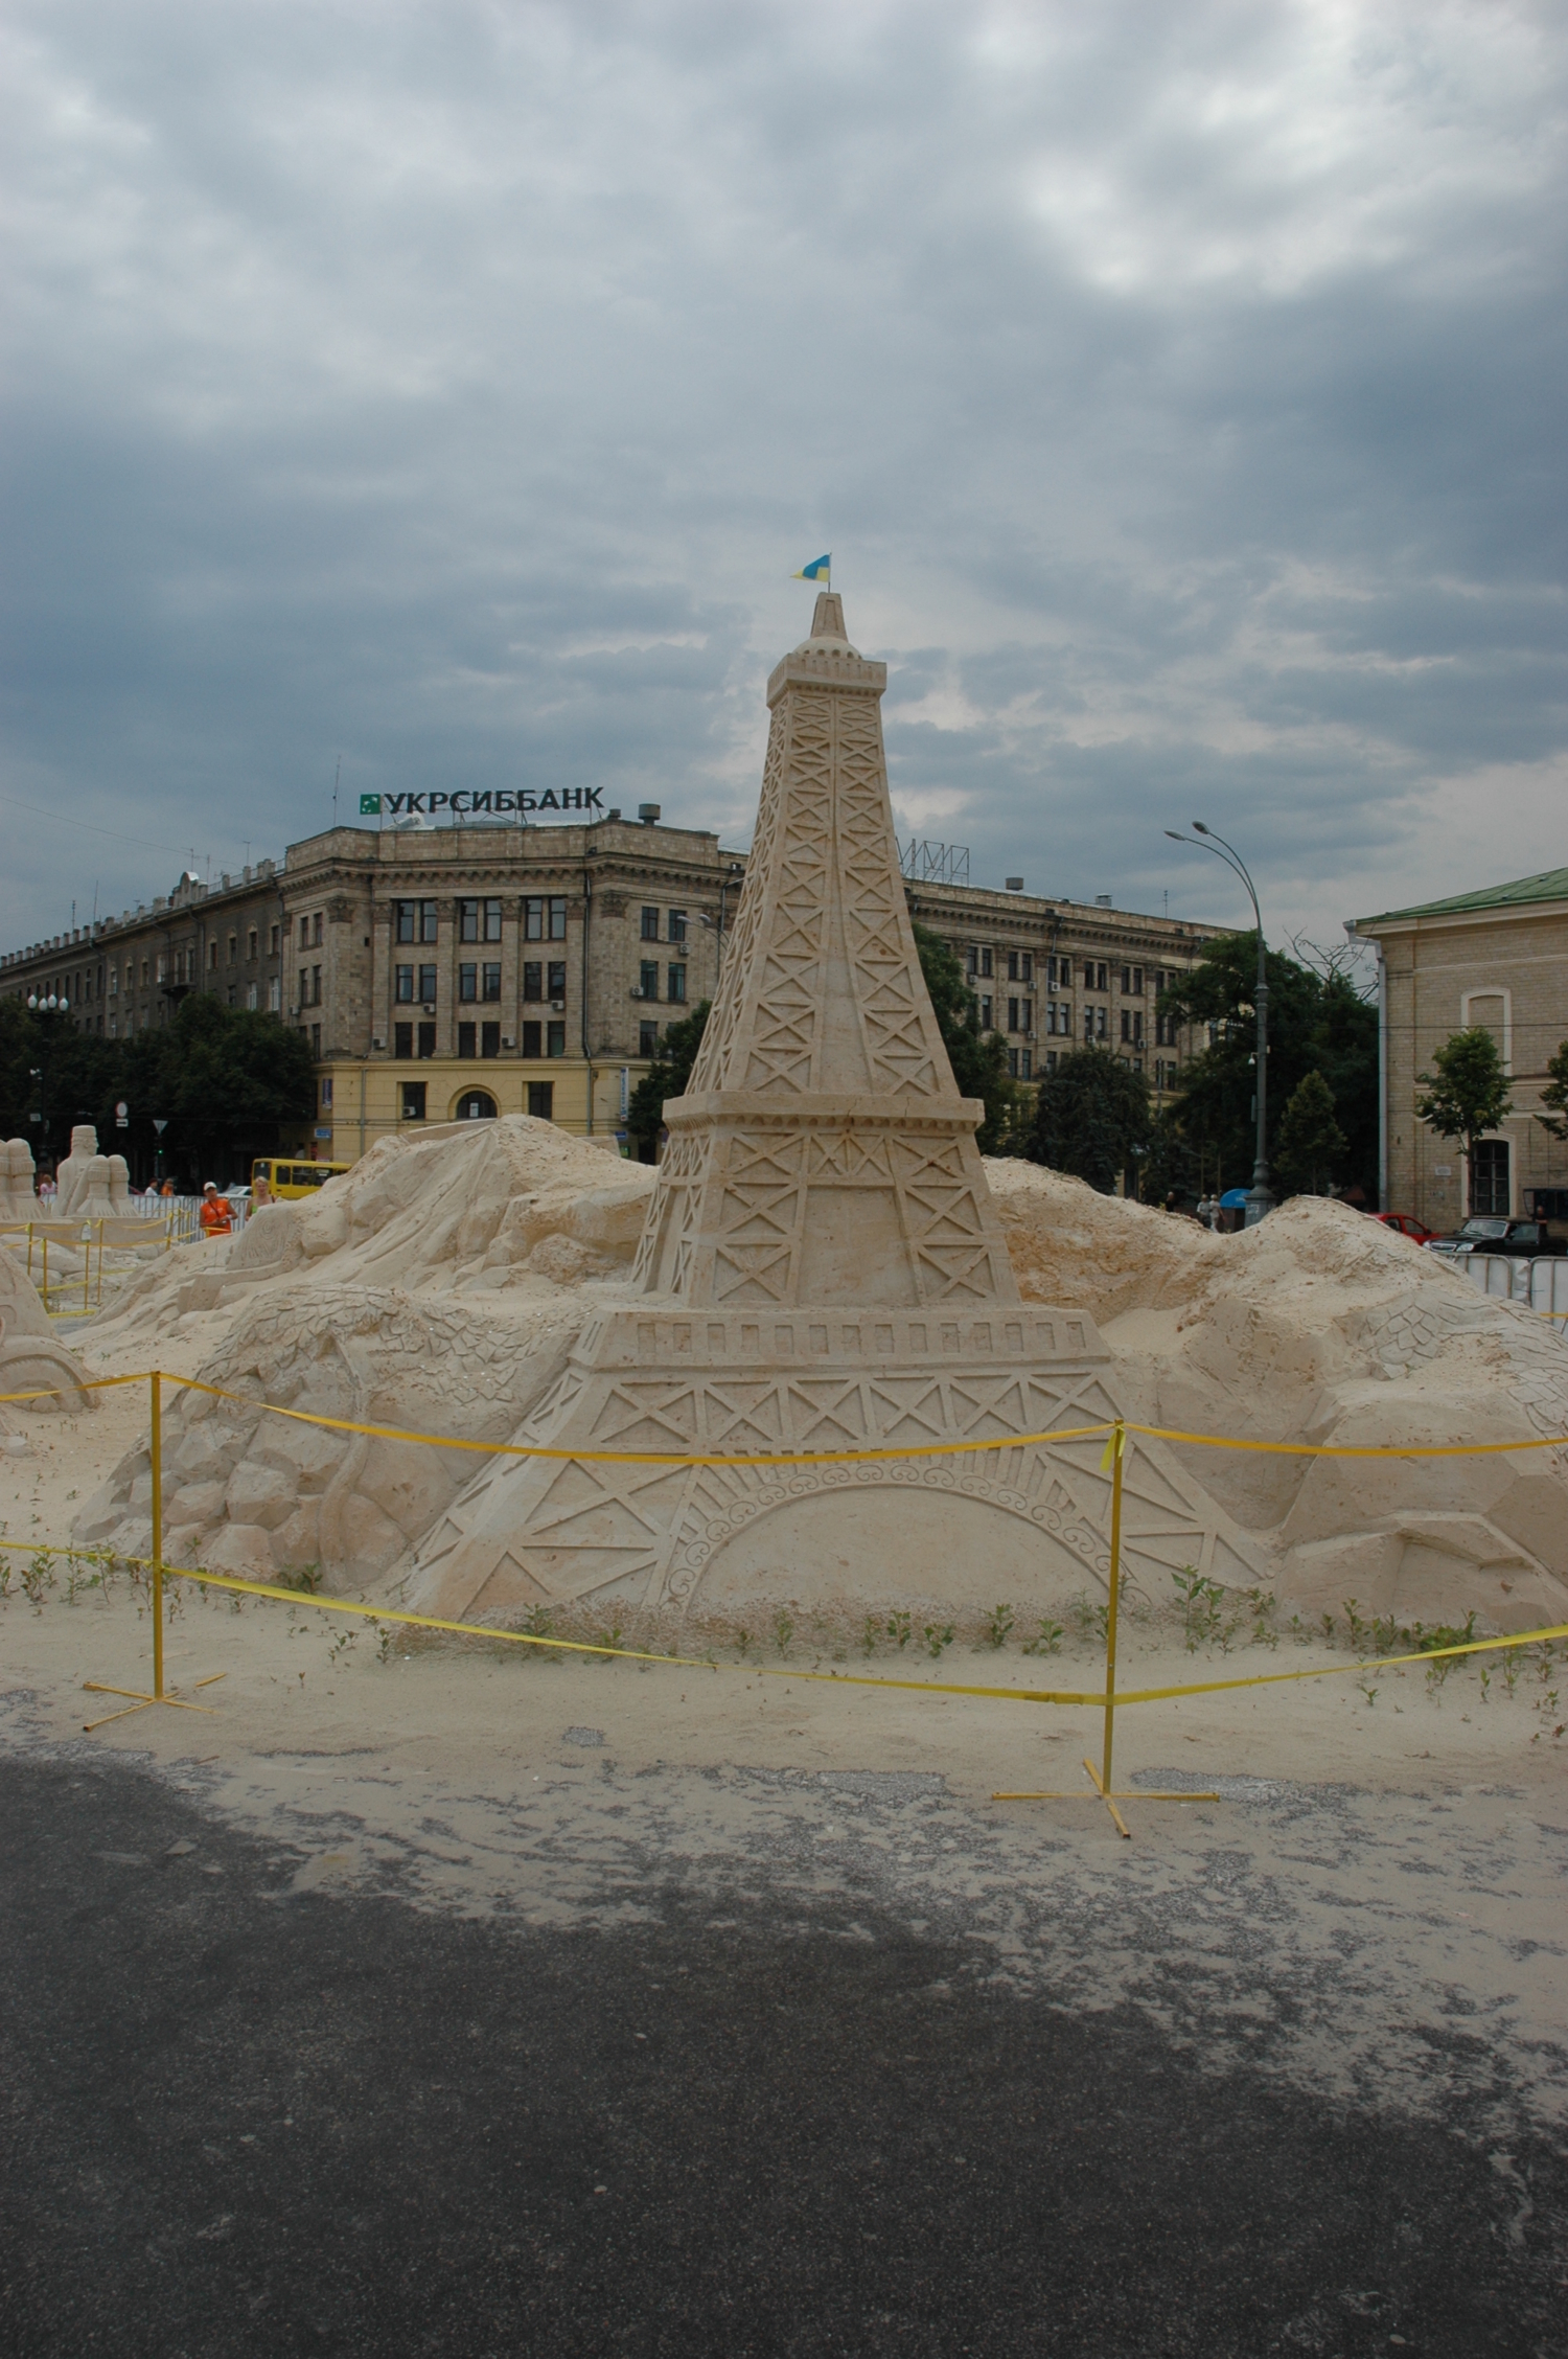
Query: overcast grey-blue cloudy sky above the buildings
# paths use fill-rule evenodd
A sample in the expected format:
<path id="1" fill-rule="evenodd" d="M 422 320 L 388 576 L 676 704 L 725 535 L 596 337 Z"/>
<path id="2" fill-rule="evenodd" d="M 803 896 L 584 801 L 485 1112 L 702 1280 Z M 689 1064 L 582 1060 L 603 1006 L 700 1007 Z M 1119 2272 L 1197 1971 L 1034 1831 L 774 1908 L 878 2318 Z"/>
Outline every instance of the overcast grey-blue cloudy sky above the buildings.
<path id="1" fill-rule="evenodd" d="M 0 946 L 340 757 L 743 845 L 823 550 L 976 882 L 1240 922 L 1200 816 L 1337 937 L 1568 863 L 1566 59 L 1507 0 L 12 0 Z"/>

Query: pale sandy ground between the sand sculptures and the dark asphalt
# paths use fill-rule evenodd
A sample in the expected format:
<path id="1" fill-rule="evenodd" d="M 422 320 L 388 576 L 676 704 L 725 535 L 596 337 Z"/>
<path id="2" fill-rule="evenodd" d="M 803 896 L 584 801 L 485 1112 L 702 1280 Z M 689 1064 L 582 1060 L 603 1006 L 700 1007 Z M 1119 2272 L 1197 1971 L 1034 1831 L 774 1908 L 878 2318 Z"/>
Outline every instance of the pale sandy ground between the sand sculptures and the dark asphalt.
<path id="1" fill-rule="evenodd" d="M 189 1321 L 165 1354 L 203 1352 Z M 106 1354 L 92 1373 L 113 1373 Z M 0 1463 L 7 1540 L 59 1538 L 146 1415 L 144 1392 L 28 1427 Z M 19 1564 L 21 1559 L 12 1559 Z M 1283 1642 L 1188 1654 L 1134 1625 L 1127 1684 L 1346 1656 Z M 1063 2010 L 1134 2005 L 1219 2069 L 1243 2057 L 1297 2088 L 1412 2114 L 1455 2107 L 1502 2142 L 1568 2109 L 1568 1665 L 1346 1673 L 1127 1710 L 1118 1786 L 1214 1786 L 1219 1802 L 995 1802 L 997 1786 L 1082 1788 L 1099 1713 L 934 1691 L 811 1684 L 813 1656 L 717 1670 L 540 1661 L 483 1640 L 377 1635 L 316 1614 L 186 1592 L 167 1675 L 210 1715 L 137 1713 L 151 1632 L 127 1583 L 0 1606 L 0 1746 L 120 1755 L 276 1847 L 290 1890 L 391 1894 L 538 1927 L 637 1925 L 653 1887 L 719 1911 L 795 1894 L 910 1934 L 974 1944 L 976 1972 Z M 821 1668 L 832 1668 L 823 1663 Z M 943 1682 L 1096 1684 L 1094 1644 L 1028 1661 L 894 1647 L 839 1670 Z M 1368 1694 L 1372 1689 L 1375 1694 Z M 870 1937 L 870 1934 L 868 1934 Z M 1502 2166 L 1500 2166 L 1502 2168 Z"/>

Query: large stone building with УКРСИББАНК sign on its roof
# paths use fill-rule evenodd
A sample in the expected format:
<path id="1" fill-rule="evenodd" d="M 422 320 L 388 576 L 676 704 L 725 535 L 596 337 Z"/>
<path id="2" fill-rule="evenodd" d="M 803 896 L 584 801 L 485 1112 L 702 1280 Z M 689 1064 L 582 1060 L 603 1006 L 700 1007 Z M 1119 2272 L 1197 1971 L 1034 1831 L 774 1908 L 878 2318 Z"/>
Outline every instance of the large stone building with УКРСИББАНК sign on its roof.
<path id="1" fill-rule="evenodd" d="M 667 1029 L 712 998 L 743 880 L 745 854 L 658 816 L 344 826 L 14 951 L 0 993 L 64 998 L 104 1038 L 167 1024 L 191 991 L 297 1026 L 318 1090 L 297 1149 L 318 1161 L 493 1113 L 608 1137 Z M 1188 1040 L 1155 1000 L 1214 927 L 969 885 L 913 882 L 908 899 L 957 951 L 1021 1083 L 1096 1040 L 1155 1097 L 1177 1085 Z"/>

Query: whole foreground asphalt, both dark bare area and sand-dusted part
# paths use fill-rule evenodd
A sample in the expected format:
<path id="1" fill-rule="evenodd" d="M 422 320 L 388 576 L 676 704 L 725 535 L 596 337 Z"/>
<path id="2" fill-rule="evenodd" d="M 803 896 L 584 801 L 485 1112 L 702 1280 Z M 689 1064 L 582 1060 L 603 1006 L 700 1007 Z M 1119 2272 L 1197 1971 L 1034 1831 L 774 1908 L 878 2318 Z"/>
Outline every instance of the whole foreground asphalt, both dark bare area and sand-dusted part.
<path id="1" fill-rule="evenodd" d="M 1507 1798 L 1422 1802 L 1318 1923 L 1365 1798 L 1259 1786 L 1129 1864 L 976 1854 L 941 1779 L 736 1772 L 722 1857 L 712 1776 L 566 1753 L 552 1868 L 564 1802 L 516 1798 L 394 1857 L 375 1753 L 252 1824 L 222 1772 L 0 1757 L 9 2354 L 1566 2359 L 1551 2043 L 1462 1951 L 1386 2003 L 1379 1882 L 1394 1953 L 1434 1859 L 1483 1916 Z"/>

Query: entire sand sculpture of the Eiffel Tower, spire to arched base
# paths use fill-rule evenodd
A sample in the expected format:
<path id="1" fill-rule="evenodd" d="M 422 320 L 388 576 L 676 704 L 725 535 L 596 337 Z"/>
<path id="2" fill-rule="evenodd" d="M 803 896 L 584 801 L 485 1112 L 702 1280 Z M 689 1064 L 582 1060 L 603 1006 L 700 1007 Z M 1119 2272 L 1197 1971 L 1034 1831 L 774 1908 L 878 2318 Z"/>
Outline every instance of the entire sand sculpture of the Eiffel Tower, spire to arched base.
<path id="1" fill-rule="evenodd" d="M 908 1448 L 818 1467 L 500 1460 L 406 1566 L 427 1611 L 625 1602 L 745 1618 L 934 1602 L 1047 1609 L 1106 1581 L 1101 1444 L 922 1456 L 1115 1413 L 1082 1312 L 1021 1302 L 910 929 L 887 665 L 837 594 L 769 679 L 755 849 L 648 1208 L 634 1307 L 599 1314 L 519 1441 L 582 1451 Z M 1167 1453 L 1139 1448 L 1127 1571 L 1257 1578 Z"/>

